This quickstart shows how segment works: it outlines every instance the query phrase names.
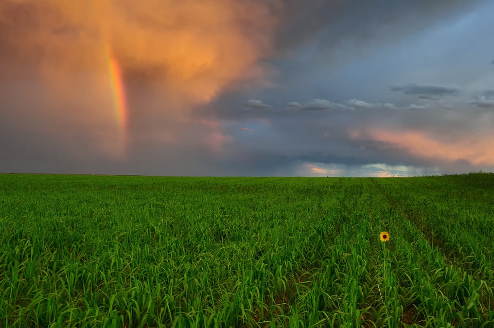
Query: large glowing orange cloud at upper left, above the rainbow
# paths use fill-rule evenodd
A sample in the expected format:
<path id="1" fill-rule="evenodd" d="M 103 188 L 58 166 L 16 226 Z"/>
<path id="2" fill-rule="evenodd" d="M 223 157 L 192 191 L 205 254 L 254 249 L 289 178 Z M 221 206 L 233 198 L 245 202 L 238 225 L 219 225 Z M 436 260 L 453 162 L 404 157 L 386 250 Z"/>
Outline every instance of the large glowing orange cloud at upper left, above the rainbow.
<path id="1" fill-rule="evenodd" d="M 50 75 L 53 70 L 100 68 L 107 42 L 120 64 L 137 76 L 166 82 L 197 101 L 210 100 L 241 76 L 262 74 L 253 66 L 269 52 L 275 21 L 268 9 L 232 0 L 23 0 L 2 5 L 15 52 L 50 63 Z M 9 14 L 14 15 L 10 20 L 5 18 Z"/>

